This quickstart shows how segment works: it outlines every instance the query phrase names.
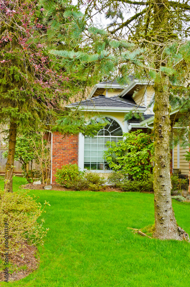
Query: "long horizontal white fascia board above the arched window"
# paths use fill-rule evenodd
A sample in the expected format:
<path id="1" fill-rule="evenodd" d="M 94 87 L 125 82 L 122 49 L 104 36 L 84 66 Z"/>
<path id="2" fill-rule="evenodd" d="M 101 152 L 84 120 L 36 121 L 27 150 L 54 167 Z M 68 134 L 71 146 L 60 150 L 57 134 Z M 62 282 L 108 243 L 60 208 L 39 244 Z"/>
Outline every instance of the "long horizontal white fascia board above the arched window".
<path id="1" fill-rule="evenodd" d="M 77 108 L 76 107 L 71 107 L 71 106 L 66 106 L 67 108 Z M 120 108 L 120 107 L 84 107 L 84 106 L 81 106 L 81 107 L 78 107 L 78 110 L 80 111 L 88 111 L 88 112 L 119 112 L 119 113 L 127 113 L 131 110 L 135 110 L 136 112 L 145 112 L 146 111 L 146 108 L 138 108 L 138 107 L 133 107 L 133 108 Z"/>

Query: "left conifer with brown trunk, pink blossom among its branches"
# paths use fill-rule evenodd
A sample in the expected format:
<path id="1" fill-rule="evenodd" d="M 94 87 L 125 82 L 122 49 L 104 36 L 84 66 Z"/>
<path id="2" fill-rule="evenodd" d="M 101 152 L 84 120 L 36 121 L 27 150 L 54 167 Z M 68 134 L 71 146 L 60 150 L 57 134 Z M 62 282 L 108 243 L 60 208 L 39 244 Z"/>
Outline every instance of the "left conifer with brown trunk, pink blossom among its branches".
<path id="1" fill-rule="evenodd" d="M 36 1 L 0 2 L 0 121 L 9 125 L 5 186 L 12 191 L 16 134 L 51 124 L 68 79 L 46 53 Z M 39 15 L 39 16 L 38 16 Z"/>

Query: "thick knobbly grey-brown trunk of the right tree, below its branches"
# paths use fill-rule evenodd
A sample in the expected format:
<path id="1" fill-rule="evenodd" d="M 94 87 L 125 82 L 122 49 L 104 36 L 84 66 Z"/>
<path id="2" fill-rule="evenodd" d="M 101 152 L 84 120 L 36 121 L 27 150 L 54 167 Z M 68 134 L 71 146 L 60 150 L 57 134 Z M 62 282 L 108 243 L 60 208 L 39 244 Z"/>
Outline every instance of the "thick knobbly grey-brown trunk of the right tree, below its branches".
<path id="1" fill-rule="evenodd" d="M 154 216 L 153 236 L 159 239 L 189 241 L 189 235 L 177 225 L 171 200 L 170 179 L 170 106 L 169 82 L 154 85 Z"/>

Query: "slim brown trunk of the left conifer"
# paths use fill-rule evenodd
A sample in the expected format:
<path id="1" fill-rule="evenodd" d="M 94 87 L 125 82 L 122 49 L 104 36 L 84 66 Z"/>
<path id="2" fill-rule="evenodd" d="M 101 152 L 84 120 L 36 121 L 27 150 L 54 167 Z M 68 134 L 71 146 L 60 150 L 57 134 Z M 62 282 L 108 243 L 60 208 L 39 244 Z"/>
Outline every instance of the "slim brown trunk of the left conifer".
<path id="1" fill-rule="evenodd" d="M 5 168 L 5 185 L 4 185 L 4 188 L 6 188 L 6 190 L 9 192 L 13 192 L 13 165 L 14 165 L 14 155 L 16 145 L 16 129 L 17 129 L 16 121 L 14 121 L 14 119 L 11 119 L 9 127 L 9 150 Z"/>

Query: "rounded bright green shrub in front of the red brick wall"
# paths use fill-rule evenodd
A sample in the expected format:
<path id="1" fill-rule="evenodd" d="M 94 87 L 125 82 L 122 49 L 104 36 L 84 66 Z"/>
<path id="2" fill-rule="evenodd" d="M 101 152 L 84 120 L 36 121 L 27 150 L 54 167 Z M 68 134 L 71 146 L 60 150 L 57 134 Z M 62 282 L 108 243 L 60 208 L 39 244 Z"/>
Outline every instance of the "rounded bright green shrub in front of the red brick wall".
<path id="1" fill-rule="evenodd" d="M 61 169 L 57 169 L 55 177 L 56 182 L 67 188 L 71 187 L 71 183 L 77 184 L 77 181 L 82 179 L 84 172 L 79 170 L 77 164 L 66 164 Z"/>

